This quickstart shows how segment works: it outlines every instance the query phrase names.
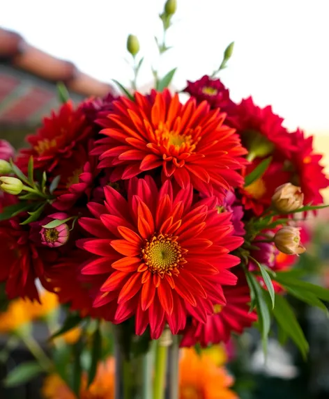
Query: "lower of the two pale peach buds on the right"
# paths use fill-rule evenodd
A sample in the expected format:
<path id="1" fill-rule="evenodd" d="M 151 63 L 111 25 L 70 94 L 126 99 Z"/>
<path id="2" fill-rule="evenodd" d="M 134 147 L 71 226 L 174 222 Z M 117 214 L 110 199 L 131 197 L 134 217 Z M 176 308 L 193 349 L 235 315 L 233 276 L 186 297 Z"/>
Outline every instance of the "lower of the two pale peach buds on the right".
<path id="1" fill-rule="evenodd" d="M 275 246 L 287 255 L 299 255 L 305 252 L 305 247 L 300 243 L 300 228 L 284 226 L 277 230 L 274 236 Z"/>

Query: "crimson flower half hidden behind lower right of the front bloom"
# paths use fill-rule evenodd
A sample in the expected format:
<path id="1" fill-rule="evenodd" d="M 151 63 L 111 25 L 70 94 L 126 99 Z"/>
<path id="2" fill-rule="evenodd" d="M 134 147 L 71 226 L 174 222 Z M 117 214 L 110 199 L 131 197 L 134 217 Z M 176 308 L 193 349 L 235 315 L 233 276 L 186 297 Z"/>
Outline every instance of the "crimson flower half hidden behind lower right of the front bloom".
<path id="1" fill-rule="evenodd" d="M 193 319 L 185 329 L 181 346 L 193 346 L 200 343 L 202 347 L 222 341 L 228 341 L 231 332 L 242 334 L 243 329 L 250 327 L 257 320 L 256 313 L 250 313 L 250 288 L 242 272 L 238 273 L 238 284 L 224 287 L 226 305 L 215 304 L 213 315 L 208 315 L 206 324 Z"/>

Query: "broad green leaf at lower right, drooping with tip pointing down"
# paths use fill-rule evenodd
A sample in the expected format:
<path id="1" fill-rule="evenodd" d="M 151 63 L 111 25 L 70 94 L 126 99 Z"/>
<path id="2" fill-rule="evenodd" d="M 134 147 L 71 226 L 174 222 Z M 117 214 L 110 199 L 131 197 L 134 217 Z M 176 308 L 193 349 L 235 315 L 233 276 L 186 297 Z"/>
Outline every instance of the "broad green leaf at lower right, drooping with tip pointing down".
<path id="1" fill-rule="evenodd" d="M 275 308 L 273 309 L 273 315 L 282 330 L 293 340 L 294 343 L 296 343 L 305 358 L 309 350 L 309 345 L 291 306 L 287 302 L 286 298 L 281 295 L 275 295 Z"/>

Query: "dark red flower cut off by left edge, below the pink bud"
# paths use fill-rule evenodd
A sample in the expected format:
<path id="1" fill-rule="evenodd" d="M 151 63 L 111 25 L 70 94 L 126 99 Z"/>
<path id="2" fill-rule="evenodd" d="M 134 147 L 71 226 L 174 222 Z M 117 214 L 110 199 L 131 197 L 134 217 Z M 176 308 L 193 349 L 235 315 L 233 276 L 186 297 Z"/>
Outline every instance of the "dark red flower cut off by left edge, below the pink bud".
<path id="1" fill-rule="evenodd" d="M 39 299 L 35 279 L 43 274 L 43 262 L 29 239 L 29 230 L 16 219 L 0 225 L 0 281 L 6 281 L 8 298 Z"/>

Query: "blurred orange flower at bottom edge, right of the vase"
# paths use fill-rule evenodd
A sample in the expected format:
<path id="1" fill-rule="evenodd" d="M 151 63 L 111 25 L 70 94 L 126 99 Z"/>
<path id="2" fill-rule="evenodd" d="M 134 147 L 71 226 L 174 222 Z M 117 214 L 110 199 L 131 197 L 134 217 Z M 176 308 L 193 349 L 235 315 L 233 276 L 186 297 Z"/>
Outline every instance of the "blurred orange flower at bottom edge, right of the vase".
<path id="1" fill-rule="evenodd" d="M 233 378 L 207 354 L 183 349 L 179 367 L 179 399 L 238 399 Z"/>

